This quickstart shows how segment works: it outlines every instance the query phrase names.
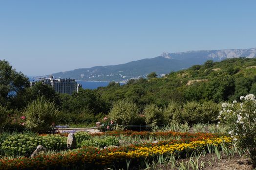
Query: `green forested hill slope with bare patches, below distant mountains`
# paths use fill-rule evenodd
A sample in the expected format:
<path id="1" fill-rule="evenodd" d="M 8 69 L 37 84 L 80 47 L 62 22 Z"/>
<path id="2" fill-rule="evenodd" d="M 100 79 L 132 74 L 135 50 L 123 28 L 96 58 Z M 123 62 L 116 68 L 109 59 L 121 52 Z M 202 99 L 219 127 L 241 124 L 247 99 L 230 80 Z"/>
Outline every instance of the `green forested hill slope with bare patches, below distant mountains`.
<path id="1" fill-rule="evenodd" d="M 130 80 L 122 86 L 111 83 L 97 91 L 109 103 L 128 99 L 141 106 L 148 103 L 163 106 L 170 101 L 239 100 L 248 93 L 256 94 L 256 58 L 207 61 L 163 78 Z"/>

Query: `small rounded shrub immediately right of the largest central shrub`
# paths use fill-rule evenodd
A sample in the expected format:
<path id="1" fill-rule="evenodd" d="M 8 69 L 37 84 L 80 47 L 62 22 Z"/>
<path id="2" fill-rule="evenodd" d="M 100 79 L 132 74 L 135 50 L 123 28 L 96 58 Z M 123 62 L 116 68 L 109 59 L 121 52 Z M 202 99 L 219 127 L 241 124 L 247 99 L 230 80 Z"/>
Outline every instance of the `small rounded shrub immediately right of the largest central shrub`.
<path id="1" fill-rule="evenodd" d="M 143 112 L 145 115 L 145 121 L 147 125 L 154 127 L 156 125 L 164 124 L 163 110 L 156 104 L 146 105 Z"/>

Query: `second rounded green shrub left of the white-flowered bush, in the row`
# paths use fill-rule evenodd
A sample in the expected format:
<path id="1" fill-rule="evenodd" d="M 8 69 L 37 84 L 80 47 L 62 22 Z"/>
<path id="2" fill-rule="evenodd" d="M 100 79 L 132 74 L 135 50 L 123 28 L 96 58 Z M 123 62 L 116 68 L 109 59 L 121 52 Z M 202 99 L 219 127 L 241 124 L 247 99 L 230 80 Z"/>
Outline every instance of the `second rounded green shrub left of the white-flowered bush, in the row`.
<path id="1" fill-rule="evenodd" d="M 201 122 L 203 117 L 201 104 L 198 102 L 185 103 L 181 115 L 183 122 L 188 122 L 189 124 Z"/>

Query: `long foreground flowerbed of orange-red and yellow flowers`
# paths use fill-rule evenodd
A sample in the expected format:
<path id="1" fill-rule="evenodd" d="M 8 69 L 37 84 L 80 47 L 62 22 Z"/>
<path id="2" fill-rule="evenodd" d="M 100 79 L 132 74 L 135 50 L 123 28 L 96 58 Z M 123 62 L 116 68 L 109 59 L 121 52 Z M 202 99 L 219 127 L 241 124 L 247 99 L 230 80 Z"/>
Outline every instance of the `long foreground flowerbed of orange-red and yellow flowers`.
<path id="1" fill-rule="evenodd" d="M 211 136 L 212 134 L 209 134 Z M 230 143 L 232 140 L 226 136 L 211 136 L 200 134 L 196 138 L 183 140 L 161 141 L 158 143 L 144 143 L 113 149 L 98 149 L 84 147 L 66 154 L 39 155 L 35 158 L 17 158 L 0 160 L 0 170 L 32 170 L 41 169 L 105 169 L 115 165 L 116 168 L 124 168 L 126 160 L 130 160 L 132 166 L 143 166 L 145 159 L 154 159 L 159 154 L 185 155 L 193 151 L 201 151 L 207 145 L 220 145 Z M 198 137 L 199 136 L 199 137 Z"/>

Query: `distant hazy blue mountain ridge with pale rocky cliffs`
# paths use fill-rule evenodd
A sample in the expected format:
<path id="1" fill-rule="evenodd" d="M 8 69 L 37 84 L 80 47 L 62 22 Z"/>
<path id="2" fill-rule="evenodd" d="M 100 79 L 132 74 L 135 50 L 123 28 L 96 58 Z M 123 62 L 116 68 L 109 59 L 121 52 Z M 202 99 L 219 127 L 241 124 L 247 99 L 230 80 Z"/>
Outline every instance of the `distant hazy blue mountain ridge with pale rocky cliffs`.
<path id="1" fill-rule="evenodd" d="M 92 68 L 79 68 L 71 71 L 53 73 L 55 78 L 74 78 L 85 81 L 115 81 L 126 82 L 129 79 L 146 77 L 151 72 L 158 75 L 167 74 L 189 68 L 193 65 L 203 64 L 207 60 L 221 61 L 227 58 L 256 58 L 256 48 L 233 50 L 202 50 L 187 52 L 164 52 L 155 58 L 131 61 L 126 64 L 114 66 L 96 66 Z"/>

